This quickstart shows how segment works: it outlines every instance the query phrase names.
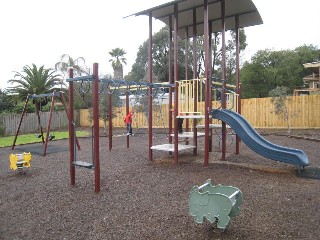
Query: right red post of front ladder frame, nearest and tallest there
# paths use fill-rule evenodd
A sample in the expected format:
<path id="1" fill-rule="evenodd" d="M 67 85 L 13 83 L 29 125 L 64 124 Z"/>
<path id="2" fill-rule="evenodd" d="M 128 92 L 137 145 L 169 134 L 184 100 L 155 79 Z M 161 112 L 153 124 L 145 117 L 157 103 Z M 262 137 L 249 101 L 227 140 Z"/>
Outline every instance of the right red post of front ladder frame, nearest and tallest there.
<path id="1" fill-rule="evenodd" d="M 100 156 L 99 156 L 99 71 L 98 63 L 93 64 L 93 144 L 94 144 L 94 186 L 100 192 Z"/>

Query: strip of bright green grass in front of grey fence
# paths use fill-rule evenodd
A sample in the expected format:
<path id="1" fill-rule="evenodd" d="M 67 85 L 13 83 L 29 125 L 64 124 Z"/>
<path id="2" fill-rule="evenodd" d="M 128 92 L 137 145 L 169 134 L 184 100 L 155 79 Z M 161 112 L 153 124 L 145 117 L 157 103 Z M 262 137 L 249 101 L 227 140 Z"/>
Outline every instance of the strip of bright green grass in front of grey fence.
<path id="1" fill-rule="evenodd" d="M 87 137 L 90 136 L 89 132 L 85 131 L 77 131 L 77 137 Z M 54 132 L 52 134 L 55 136 L 54 140 L 59 140 L 59 139 L 66 139 L 69 138 L 69 132 Z M 46 137 L 46 134 L 43 136 L 44 138 Z M 0 147 L 10 147 L 13 144 L 14 136 L 9 136 L 9 137 L 0 137 Z M 41 142 L 41 137 L 38 138 L 35 136 L 35 134 L 24 134 L 24 135 L 18 135 L 16 145 L 20 144 L 28 144 L 28 143 L 37 143 Z"/>

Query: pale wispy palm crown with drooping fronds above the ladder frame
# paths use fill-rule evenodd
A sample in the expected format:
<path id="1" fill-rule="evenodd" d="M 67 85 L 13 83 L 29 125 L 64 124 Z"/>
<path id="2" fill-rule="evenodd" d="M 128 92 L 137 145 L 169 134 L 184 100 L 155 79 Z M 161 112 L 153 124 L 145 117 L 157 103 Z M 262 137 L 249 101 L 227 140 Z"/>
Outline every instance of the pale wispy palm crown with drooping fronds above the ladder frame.
<path id="1" fill-rule="evenodd" d="M 81 76 L 83 73 L 87 74 L 85 59 L 83 57 L 78 57 L 73 59 L 68 54 L 63 54 L 59 62 L 55 64 L 55 69 L 60 71 L 64 77 L 67 76 L 69 68 L 74 69 L 74 74 L 76 76 Z"/>

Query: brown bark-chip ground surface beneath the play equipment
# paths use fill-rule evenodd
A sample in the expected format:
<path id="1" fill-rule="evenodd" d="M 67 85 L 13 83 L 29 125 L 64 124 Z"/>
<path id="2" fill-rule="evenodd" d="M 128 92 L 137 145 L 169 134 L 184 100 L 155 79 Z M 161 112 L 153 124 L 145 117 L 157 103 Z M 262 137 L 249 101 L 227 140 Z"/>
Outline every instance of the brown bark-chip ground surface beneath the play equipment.
<path id="1" fill-rule="evenodd" d="M 90 131 L 88 129 L 88 131 Z M 298 137 L 259 131 L 282 146 L 303 149 L 310 166 L 319 167 L 319 130 L 294 131 Z M 265 134 L 266 133 L 266 134 Z M 308 140 L 306 137 L 312 139 Z M 164 133 L 154 133 L 162 143 Z M 221 161 L 214 138 L 209 165 L 199 154 L 181 152 L 179 163 L 167 152 L 148 160 L 148 134 L 113 139 L 100 137 L 101 191 L 94 193 L 94 173 L 77 168 L 70 185 L 69 152 L 33 154 L 31 168 L 9 170 L 11 148 L 2 148 L 0 161 L 0 239 L 316 239 L 319 236 L 319 180 L 296 176 L 293 165 L 268 160 L 240 144 L 227 142 Z M 79 138 L 80 160 L 91 159 L 91 138 Z M 50 145 L 67 146 L 68 140 Z M 188 214 L 188 194 L 207 179 L 242 191 L 240 214 L 224 231 L 196 224 Z"/>

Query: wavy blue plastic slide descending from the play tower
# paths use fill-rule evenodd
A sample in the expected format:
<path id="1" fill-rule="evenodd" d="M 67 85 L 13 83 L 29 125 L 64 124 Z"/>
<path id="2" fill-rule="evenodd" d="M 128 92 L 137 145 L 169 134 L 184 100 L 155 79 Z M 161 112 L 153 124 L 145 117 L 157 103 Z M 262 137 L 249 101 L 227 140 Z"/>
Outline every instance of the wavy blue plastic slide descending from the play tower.
<path id="1" fill-rule="evenodd" d="M 279 146 L 267 141 L 244 117 L 234 111 L 214 109 L 212 117 L 228 124 L 250 149 L 263 157 L 295 165 L 298 169 L 309 165 L 309 159 L 302 150 Z"/>

